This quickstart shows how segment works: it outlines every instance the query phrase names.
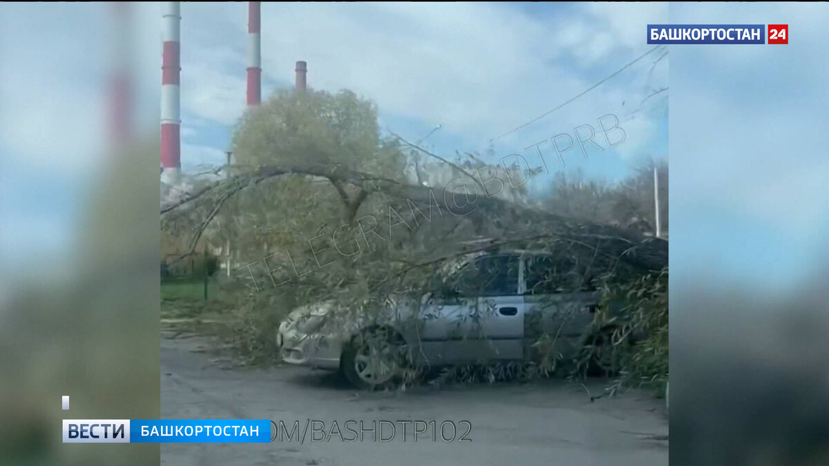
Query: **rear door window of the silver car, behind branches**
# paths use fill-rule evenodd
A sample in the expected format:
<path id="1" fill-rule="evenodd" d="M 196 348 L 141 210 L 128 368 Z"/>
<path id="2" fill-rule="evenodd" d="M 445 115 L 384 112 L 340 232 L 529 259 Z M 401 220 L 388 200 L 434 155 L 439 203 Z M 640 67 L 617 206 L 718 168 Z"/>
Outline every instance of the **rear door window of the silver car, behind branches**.
<path id="1" fill-rule="evenodd" d="M 533 255 L 526 258 L 526 294 L 573 293 L 594 289 L 592 277 L 570 257 Z"/>

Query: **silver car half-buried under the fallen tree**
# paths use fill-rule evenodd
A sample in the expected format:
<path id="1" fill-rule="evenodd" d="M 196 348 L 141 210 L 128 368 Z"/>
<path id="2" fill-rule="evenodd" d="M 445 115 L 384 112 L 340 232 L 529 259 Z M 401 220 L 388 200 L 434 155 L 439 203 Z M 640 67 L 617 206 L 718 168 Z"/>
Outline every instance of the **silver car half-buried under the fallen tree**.
<path id="1" fill-rule="evenodd" d="M 555 337 L 556 352 L 574 352 L 599 301 L 577 262 L 524 250 L 465 255 L 434 275 L 419 302 L 391 298 L 380 315 L 339 321 L 331 301 L 298 308 L 277 340 L 285 362 L 339 370 L 363 387 L 385 384 L 405 364 L 531 360 L 541 335 Z"/>

